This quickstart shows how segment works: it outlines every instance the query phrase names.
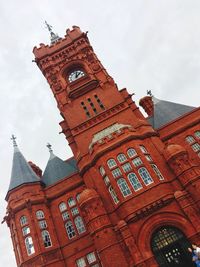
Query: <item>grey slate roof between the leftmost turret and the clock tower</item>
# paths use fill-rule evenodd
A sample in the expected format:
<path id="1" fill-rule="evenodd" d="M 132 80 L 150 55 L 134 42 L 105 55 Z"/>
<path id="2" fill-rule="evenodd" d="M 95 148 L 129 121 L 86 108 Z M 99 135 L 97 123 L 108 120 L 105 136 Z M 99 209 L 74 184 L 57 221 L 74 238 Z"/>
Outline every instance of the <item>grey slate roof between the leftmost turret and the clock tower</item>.
<path id="1" fill-rule="evenodd" d="M 78 172 L 78 167 L 74 158 L 70 158 L 65 162 L 51 152 L 42 181 L 46 186 L 49 186 L 75 172 Z"/>

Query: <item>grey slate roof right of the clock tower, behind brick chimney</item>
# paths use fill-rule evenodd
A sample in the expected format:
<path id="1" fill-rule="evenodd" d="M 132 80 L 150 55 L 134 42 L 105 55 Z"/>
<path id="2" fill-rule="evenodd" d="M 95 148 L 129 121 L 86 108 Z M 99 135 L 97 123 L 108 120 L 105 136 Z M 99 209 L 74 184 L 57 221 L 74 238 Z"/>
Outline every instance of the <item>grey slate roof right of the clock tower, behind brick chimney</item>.
<path id="1" fill-rule="evenodd" d="M 149 117 L 148 121 L 155 129 L 195 109 L 195 107 L 160 100 L 155 97 L 152 97 L 152 100 L 154 102 L 154 115 Z"/>

